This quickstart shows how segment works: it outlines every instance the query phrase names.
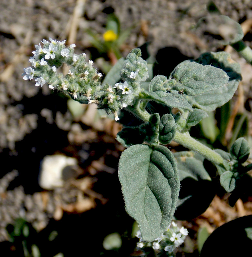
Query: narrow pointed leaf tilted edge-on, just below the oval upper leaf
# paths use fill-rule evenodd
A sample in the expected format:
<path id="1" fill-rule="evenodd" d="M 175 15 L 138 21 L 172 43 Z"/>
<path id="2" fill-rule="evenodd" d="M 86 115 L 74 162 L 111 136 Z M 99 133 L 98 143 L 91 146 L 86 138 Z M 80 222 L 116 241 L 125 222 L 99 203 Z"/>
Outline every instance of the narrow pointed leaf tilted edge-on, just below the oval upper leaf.
<path id="1" fill-rule="evenodd" d="M 182 95 L 180 95 L 178 91 L 169 93 L 165 93 L 163 91 L 142 91 L 141 94 L 143 99 L 153 100 L 172 108 L 186 109 L 189 111 L 193 110 L 188 101 Z"/>

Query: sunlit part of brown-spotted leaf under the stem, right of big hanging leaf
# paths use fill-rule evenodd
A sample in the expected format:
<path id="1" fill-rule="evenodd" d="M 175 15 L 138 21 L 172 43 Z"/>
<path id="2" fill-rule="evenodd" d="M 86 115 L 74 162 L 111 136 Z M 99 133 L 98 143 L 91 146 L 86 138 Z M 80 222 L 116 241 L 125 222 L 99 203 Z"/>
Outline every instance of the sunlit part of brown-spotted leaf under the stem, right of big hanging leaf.
<path id="1" fill-rule="evenodd" d="M 204 157 L 193 151 L 175 152 L 174 157 L 178 164 L 180 181 L 189 177 L 194 180 L 209 180 L 211 177 L 203 166 Z"/>

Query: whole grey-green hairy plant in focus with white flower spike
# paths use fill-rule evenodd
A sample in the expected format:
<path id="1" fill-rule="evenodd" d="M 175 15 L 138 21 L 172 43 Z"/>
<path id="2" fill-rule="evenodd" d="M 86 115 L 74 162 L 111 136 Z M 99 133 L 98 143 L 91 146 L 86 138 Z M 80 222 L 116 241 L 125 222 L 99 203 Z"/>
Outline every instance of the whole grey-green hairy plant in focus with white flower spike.
<path id="1" fill-rule="evenodd" d="M 189 134 L 192 126 L 208 116 L 207 112 L 227 103 L 238 87 L 240 66 L 229 53 L 209 52 L 196 60 L 184 61 L 169 78 L 150 78 L 146 88 L 149 69 L 138 48 L 124 61 L 118 61 L 119 66 L 107 75 L 114 76 L 112 79 L 106 77 L 101 83 L 102 74 L 91 60 L 86 60 L 85 54 L 74 54 L 75 45 L 67 47 L 65 41 L 49 40 L 41 41 L 42 46 L 35 45 L 37 50 L 29 60 L 33 67 L 24 69 L 24 79 L 35 78 L 36 86 L 48 85 L 79 103 L 96 104 L 108 115 L 114 115 L 116 121 L 120 121 L 120 110 L 142 120 L 140 126 L 124 127 L 117 140 L 126 147 L 118 170 L 126 211 L 138 223 L 144 242 L 167 234 L 176 207 L 186 206 L 194 199 L 191 195 L 178 198 L 180 181 L 211 180 L 205 160 L 216 168 L 219 182 L 227 192 L 232 192 L 251 169 L 251 165 L 244 165 L 250 152 L 245 139 L 239 138 L 230 152 L 225 152 L 213 150 Z M 70 67 L 65 76 L 58 72 L 63 64 Z M 113 75 L 115 71 L 120 71 L 120 76 Z M 173 154 L 166 146 L 172 140 L 190 151 Z M 197 205 L 205 208 L 201 202 Z M 180 242 L 181 233 L 174 233 L 180 235 L 171 234 L 169 240 Z"/>

